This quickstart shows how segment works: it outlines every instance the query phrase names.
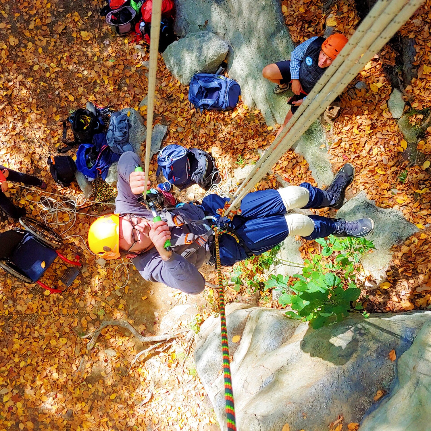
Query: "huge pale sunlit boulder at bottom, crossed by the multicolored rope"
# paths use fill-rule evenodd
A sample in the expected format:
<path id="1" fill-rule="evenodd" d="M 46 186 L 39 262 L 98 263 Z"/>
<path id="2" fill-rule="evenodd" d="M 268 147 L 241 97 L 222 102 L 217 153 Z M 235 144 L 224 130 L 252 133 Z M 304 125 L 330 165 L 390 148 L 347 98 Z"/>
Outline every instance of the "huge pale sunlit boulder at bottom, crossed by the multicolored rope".
<path id="1" fill-rule="evenodd" d="M 282 310 L 229 304 L 226 312 L 238 431 L 280 431 L 286 423 L 291 430 L 322 431 L 339 414 L 346 423 L 359 422 L 377 391 L 390 392 L 397 377 L 390 351 L 400 357 L 431 319 L 431 312 L 356 315 L 312 330 Z M 234 335 L 240 335 L 239 342 L 231 342 Z M 194 356 L 226 430 L 220 344 L 219 318 L 210 317 L 201 326 Z"/>

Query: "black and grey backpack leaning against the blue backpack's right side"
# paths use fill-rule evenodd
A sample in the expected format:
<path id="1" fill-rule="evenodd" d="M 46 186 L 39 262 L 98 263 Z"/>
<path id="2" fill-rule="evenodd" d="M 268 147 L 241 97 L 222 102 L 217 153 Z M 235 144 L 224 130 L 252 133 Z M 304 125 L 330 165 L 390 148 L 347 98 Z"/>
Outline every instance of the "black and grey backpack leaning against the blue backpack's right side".
<path id="1" fill-rule="evenodd" d="M 209 190 L 213 184 L 219 184 L 222 178 L 211 154 L 198 148 L 189 148 L 188 159 L 191 180 L 199 187 Z"/>

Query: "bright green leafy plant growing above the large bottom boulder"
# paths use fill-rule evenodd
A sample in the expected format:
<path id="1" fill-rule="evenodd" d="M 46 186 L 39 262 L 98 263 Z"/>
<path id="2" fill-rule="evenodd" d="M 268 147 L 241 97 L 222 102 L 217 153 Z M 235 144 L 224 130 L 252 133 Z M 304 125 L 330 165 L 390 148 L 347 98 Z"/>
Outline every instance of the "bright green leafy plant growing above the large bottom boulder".
<path id="1" fill-rule="evenodd" d="M 365 238 L 331 235 L 317 242 L 322 245 L 322 254 L 304 261 L 302 275 L 294 275 L 297 281 L 293 285 L 282 275 L 272 275 L 265 283 L 265 290 L 272 288 L 280 294 L 280 305 L 291 306 L 287 317 L 309 321 L 313 328 L 340 322 L 350 312 L 361 312 L 356 275 L 362 271 L 362 257 L 375 248 Z M 362 314 L 368 317 L 366 312 Z"/>

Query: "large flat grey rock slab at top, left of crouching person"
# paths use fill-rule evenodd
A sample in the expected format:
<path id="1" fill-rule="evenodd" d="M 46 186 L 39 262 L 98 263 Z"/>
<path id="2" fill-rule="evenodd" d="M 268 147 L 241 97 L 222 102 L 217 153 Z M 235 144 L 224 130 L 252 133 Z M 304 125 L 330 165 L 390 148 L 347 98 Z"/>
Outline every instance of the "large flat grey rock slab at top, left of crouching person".
<path id="1" fill-rule="evenodd" d="M 228 41 L 229 77 L 240 84 L 243 100 L 248 106 L 260 109 L 269 125 L 281 124 L 289 109 L 286 98 L 275 96 L 274 84 L 262 77 L 267 64 L 289 59 L 294 49 L 284 25 L 281 3 L 178 0 L 175 6 L 176 34 L 184 37 L 206 30 Z"/>

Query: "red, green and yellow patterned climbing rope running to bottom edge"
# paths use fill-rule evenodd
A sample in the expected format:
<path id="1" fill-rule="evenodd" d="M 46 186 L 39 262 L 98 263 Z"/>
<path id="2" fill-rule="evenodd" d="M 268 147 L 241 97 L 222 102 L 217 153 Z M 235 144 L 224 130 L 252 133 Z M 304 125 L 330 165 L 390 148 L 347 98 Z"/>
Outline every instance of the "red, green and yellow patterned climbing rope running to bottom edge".
<path id="1" fill-rule="evenodd" d="M 225 377 L 225 401 L 226 401 L 226 416 L 228 430 L 236 431 L 237 425 L 235 422 L 235 408 L 234 408 L 234 394 L 232 393 L 232 380 L 231 380 L 231 365 L 229 362 L 229 344 L 228 344 L 228 328 L 226 327 L 226 313 L 225 313 L 225 292 L 222 283 L 222 269 L 220 264 L 220 250 L 219 250 L 219 232 L 232 235 L 237 242 L 238 238 L 231 232 L 219 229 L 213 225 L 215 237 L 215 262 L 217 266 L 217 277 L 219 281 L 219 312 L 220 324 L 222 325 L 222 353 L 223 353 L 223 375 Z"/>

